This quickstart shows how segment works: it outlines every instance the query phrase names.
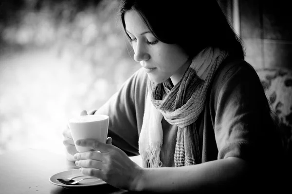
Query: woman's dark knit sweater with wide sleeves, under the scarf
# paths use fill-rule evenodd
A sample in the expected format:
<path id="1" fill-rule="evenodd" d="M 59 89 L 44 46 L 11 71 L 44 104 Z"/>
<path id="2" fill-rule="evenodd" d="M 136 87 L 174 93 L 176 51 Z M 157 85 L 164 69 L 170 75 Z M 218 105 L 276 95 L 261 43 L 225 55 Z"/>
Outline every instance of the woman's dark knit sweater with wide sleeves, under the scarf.
<path id="1" fill-rule="evenodd" d="M 112 144 L 129 156 L 139 155 L 147 79 L 144 69 L 139 69 L 102 107 L 91 111 L 110 116 L 108 135 L 112 137 Z M 275 162 L 280 139 L 267 104 L 255 69 L 243 60 L 225 60 L 210 84 L 205 108 L 197 121 L 200 162 L 230 156 L 256 161 L 259 165 Z M 163 167 L 172 167 L 178 128 L 164 118 L 162 128 L 161 162 Z"/>

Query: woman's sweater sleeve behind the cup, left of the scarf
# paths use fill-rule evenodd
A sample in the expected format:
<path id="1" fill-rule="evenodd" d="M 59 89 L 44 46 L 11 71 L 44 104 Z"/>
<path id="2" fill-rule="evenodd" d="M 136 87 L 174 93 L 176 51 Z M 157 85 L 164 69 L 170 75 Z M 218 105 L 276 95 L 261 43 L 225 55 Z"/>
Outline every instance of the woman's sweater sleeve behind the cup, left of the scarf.
<path id="1" fill-rule="evenodd" d="M 142 128 L 147 74 L 143 69 L 134 73 L 110 99 L 91 114 L 109 115 L 108 136 L 112 144 L 128 156 L 138 155 L 138 139 Z"/>

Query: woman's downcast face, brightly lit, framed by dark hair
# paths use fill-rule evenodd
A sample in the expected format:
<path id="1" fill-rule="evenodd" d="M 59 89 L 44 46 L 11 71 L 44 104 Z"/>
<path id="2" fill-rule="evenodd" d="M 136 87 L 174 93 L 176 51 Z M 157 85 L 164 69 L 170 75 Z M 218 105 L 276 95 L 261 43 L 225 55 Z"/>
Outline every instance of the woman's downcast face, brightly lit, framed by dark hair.
<path id="1" fill-rule="evenodd" d="M 185 51 L 176 44 L 157 40 L 134 10 L 125 13 L 125 24 L 135 52 L 134 60 L 145 68 L 149 79 L 160 83 L 170 78 L 174 85 L 180 81 L 191 63 Z"/>

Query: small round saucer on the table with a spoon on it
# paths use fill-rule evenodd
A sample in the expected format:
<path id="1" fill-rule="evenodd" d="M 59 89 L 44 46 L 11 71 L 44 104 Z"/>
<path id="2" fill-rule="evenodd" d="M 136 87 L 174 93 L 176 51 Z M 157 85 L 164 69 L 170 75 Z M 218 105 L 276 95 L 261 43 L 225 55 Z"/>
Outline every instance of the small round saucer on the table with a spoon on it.
<path id="1" fill-rule="evenodd" d="M 79 188 L 79 187 L 92 187 L 92 186 L 97 186 L 97 185 L 104 185 L 107 184 L 105 181 L 99 179 L 99 178 L 90 178 L 90 179 L 85 179 L 80 181 L 76 185 L 66 185 L 63 184 L 59 181 L 57 181 L 57 178 L 71 178 L 71 177 L 77 177 L 83 175 L 79 169 L 72 169 L 72 170 L 67 170 L 63 172 L 59 172 L 49 178 L 49 181 L 54 184 L 58 185 L 61 187 L 64 187 L 66 189 L 72 189 L 72 188 Z M 78 178 L 73 178 L 74 180 L 80 180 L 82 178 L 89 178 L 90 176 L 83 176 L 83 177 L 78 177 Z"/>

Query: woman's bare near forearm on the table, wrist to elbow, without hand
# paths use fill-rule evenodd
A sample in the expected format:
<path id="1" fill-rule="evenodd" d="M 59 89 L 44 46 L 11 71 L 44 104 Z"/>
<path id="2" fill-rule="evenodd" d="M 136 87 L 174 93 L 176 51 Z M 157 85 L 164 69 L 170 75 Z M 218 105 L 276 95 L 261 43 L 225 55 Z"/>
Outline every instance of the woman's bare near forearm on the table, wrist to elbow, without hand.
<path id="1" fill-rule="evenodd" d="M 166 193 L 219 191 L 234 186 L 248 172 L 245 161 L 235 157 L 177 168 L 145 168 L 137 191 Z"/>

